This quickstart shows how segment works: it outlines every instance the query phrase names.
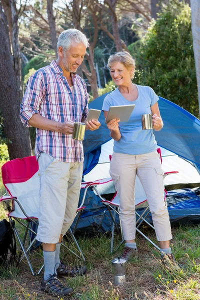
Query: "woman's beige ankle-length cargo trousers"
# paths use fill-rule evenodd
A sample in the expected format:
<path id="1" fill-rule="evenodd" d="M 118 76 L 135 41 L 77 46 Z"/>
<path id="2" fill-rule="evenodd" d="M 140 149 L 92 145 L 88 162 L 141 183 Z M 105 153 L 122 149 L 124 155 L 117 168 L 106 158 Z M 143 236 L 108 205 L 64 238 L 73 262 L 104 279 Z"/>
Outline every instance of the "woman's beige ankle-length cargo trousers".
<path id="1" fill-rule="evenodd" d="M 168 211 L 163 200 L 163 170 L 156 151 L 129 155 L 113 153 L 110 161 L 110 176 L 119 195 L 120 217 L 125 240 L 135 238 L 135 175 L 139 177 L 152 214 L 157 240 L 172 238 Z"/>

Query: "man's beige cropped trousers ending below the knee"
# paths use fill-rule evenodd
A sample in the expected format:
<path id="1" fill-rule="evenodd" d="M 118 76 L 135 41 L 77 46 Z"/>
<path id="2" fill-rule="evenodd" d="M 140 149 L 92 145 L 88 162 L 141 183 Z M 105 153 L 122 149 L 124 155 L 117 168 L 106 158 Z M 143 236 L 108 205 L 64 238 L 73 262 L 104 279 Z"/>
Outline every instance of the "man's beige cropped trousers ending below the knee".
<path id="1" fill-rule="evenodd" d="M 82 162 L 63 162 L 41 153 L 39 225 L 36 239 L 57 243 L 75 217 L 78 206 Z"/>

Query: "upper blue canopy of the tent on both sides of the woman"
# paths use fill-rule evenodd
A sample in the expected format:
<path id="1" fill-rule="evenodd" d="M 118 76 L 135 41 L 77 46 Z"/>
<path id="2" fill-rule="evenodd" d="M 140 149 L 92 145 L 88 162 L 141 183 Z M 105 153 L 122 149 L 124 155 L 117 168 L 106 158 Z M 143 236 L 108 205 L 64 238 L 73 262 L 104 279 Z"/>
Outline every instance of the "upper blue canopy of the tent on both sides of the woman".
<path id="1" fill-rule="evenodd" d="M 89 108 L 102 108 L 106 94 L 89 103 Z M 200 173 L 200 120 L 180 106 L 159 97 L 158 106 L 164 126 L 161 131 L 154 131 L 157 144 L 194 163 Z M 109 130 L 101 111 L 101 126 L 96 131 L 87 130 L 83 140 L 84 167 L 87 174 L 98 162 L 100 146 L 110 139 Z"/>

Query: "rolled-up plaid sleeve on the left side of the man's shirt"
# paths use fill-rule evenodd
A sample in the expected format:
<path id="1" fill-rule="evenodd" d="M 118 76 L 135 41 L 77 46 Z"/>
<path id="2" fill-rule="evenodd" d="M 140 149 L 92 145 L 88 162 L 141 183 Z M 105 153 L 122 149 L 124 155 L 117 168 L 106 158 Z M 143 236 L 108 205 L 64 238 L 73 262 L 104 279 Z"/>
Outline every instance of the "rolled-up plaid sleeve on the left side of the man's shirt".
<path id="1" fill-rule="evenodd" d="M 34 113 L 39 113 L 39 106 L 44 96 L 42 73 L 36 71 L 27 81 L 26 90 L 20 105 L 20 119 L 23 125 L 31 127 L 28 123 Z"/>

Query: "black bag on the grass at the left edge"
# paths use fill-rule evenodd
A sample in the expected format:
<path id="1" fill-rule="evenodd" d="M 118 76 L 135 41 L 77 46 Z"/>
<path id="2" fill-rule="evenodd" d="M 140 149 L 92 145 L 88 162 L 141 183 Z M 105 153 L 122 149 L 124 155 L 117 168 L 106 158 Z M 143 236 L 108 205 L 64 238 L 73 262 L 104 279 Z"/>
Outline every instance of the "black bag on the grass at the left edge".
<path id="1" fill-rule="evenodd" d="M 16 261 L 16 240 L 12 224 L 3 219 L 0 221 L 0 264 Z"/>

